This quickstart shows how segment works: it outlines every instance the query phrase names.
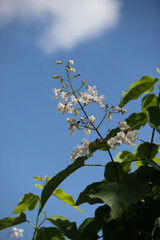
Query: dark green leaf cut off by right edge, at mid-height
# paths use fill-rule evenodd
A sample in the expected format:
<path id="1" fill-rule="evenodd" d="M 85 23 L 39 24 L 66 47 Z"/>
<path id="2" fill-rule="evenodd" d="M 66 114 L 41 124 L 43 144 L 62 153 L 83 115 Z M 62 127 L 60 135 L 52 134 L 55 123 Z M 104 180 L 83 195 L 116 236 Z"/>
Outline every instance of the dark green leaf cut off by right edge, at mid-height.
<path id="1" fill-rule="evenodd" d="M 146 111 L 149 125 L 160 133 L 160 108 L 148 107 Z"/>

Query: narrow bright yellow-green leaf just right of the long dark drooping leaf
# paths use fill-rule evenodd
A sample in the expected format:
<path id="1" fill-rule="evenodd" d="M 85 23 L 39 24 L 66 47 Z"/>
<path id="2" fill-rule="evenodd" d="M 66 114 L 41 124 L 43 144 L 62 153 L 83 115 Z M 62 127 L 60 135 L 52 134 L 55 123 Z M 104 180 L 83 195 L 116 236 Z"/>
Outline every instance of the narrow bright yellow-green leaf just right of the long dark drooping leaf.
<path id="1" fill-rule="evenodd" d="M 81 209 L 79 209 L 73 200 L 73 197 L 71 195 L 68 195 L 65 193 L 62 189 L 58 188 L 54 191 L 53 195 L 60 199 L 61 201 L 65 202 L 66 204 L 70 205 L 71 207 L 77 209 L 80 212 L 83 212 Z M 84 212 L 83 212 L 84 213 Z"/>

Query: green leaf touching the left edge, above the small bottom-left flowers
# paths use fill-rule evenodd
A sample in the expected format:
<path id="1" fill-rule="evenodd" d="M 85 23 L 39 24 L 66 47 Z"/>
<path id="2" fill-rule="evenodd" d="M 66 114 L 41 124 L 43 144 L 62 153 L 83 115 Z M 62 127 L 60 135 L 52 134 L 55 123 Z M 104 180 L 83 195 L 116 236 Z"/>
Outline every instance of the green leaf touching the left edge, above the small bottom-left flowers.
<path id="1" fill-rule="evenodd" d="M 16 218 L 6 217 L 0 219 L 0 230 L 9 228 L 26 221 L 26 215 L 24 213 L 19 214 Z"/>

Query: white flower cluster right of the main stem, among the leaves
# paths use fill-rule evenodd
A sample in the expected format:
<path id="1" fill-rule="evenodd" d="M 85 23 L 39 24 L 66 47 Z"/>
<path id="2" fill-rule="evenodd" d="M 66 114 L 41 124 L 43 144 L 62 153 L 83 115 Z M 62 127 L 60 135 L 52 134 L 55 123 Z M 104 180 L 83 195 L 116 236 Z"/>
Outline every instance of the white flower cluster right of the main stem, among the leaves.
<path id="1" fill-rule="evenodd" d="M 117 133 L 115 137 L 110 138 L 107 143 L 112 148 L 115 149 L 116 145 L 120 144 L 128 144 L 129 146 L 134 144 L 137 140 L 138 130 L 130 130 L 130 127 L 127 125 L 126 121 L 119 122 L 118 127 L 120 128 L 120 132 Z M 127 130 L 127 133 L 124 131 Z"/>

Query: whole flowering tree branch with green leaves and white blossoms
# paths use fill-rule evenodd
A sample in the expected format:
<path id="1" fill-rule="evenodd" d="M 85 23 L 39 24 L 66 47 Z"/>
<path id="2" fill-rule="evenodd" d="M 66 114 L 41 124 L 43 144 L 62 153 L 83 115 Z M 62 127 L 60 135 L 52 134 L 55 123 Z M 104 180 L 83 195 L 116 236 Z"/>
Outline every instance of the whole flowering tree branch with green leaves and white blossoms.
<path id="1" fill-rule="evenodd" d="M 80 121 L 68 119 L 70 134 L 73 134 L 75 129 L 84 129 L 86 135 L 89 135 L 90 130 L 94 130 L 97 132 L 98 138 L 92 143 L 83 140 L 82 147 L 78 146 L 76 150 L 72 151 L 71 159 L 73 163 L 52 178 L 48 176 L 45 179 L 33 177 L 35 181 L 41 182 L 41 184 L 35 184 L 42 190 L 41 196 L 26 193 L 14 209 L 14 214 L 18 214 L 17 217 L 1 219 L 0 230 L 23 222 L 29 223 L 23 212 L 32 211 L 39 203 L 33 240 L 63 240 L 65 237 L 72 240 L 96 240 L 98 238 L 104 240 L 158 240 L 160 239 L 160 158 L 157 154 L 160 145 L 154 143 L 154 136 L 160 134 L 160 93 L 158 93 L 158 96 L 153 93 L 154 89 L 155 91 L 158 89 L 160 92 L 158 79 L 151 76 L 142 77 L 129 86 L 125 92 L 122 92 L 120 103 L 116 108 L 109 108 L 108 105 L 104 106 L 102 104 L 103 97 L 98 97 L 93 87 L 87 87 L 90 95 L 80 93 L 80 97 L 77 97 L 77 90 L 73 90 L 70 78 L 70 74 L 75 71 L 70 66 L 73 63 L 70 60 L 65 66 L 68 77 L 67 84 L 70 84 L 74 96 L 72 100 L 75 101 L 76 99 L 76 103 L 79 104 L 84 113 L 84 118 Z M 61 64 L 61 61 L 57 62 L 57 65 Z M 73 78 L 78 76 L 75 75 Z M 59 75 L 54 75 L 53 78 L 59 78 L 61 83 L 64 81 L 62 76 Z M 68 87 L 67 84 L 66 88 Z M 82 82 L 80 89 L 84 86 L 85 83 Z M 62 94 L 62 100 L 68 98 L 70 92 L 67 91 Z M 54 89 L 54 98 L 57 98 L 60 92 L 62 90 Z M 91 93 L 93 97 L 91 97 Z M 129 101 L 138 99 L 142 94 L 145 95 L 141 103 L 141 112 L 132 113 L 124 122 L 119 122 L 117 128 L 110 130 L 107 136 L 102 137 L 99 126 L 104 119 L 107 118 L 110 121 L 111 114 L 115 112 L 124 114 L 126 110 L 122 107 Z M 84 95 L 88 99 L 83 104 L 82 97 Z M 104 110 L 104 117 L 97 126 L 95 126 L 94 116 L 89 117 L 84 109 L 91 102 L 97 103 Z M 73 102 L 69 110 L 67 110 L 67 104 L 65 103 L 63 106 L 60 104 L 57 111 L 62 111 L 62 114 L 66 111 L 74 111 L 76 116 L 77 112 L 73 108 Z M 146 126 L 147 123 L 148 126 Z M 135 145 L 135 141 L 138 140 L 136 136 L 138 130 L 143 127 L 152 128 L 151 140 L 146 142 L 145 139 L 139 139 L 139 144 Z M 134 145 L 135 149 L 133 152 L 119 152 L 113 159 L 111 149 L 115 149 L 120 144 Z M 72 196 L 58 186 L 79 168 L 89 166 L 89 164 L 86 164 L 86 160 L 97 150 L 107 151 L 110 156 L 110 161 L 102 166 L 104 167 L 102 181 L 93 182 L 86 186 L 75 202 Z M 137 169 L 135 171 L 132 169 L 133 162 L 136 162 Z M 99 165 L 95 164 L 94 166 Z M 47 217 L 45 214 L 43 222 L 47 221 L 51 224 L 51 227 L 45 228 L 42 227 L 43 222 L 39 223 L 39 217 L 51 196 L 59 198 L 79 211 L 81 210 L 78 206 L 83 203 L 90 205 L 99 203 L 100 206 L 98 205 L 94 217 L 86 218 L 79 227 L 77 227 L 76 222 L 70 222 L 63 216 Z M 99 232 L 102 236 L 99 236 Z"/>

